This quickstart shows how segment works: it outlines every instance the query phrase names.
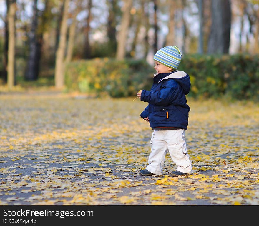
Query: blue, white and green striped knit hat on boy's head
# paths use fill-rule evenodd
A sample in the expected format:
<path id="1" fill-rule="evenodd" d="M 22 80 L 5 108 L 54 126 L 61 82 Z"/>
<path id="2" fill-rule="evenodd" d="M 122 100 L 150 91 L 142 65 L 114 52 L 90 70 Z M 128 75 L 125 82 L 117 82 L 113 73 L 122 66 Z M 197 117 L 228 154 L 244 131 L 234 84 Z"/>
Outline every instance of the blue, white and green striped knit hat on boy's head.
<path id="1" fill-rule="evenodd" d="M 181 59 L 182 53 L 177 46 L 166 46 L 158 50 L 154 56 L 155 61 L 175 70 L 178 68 Z"/>

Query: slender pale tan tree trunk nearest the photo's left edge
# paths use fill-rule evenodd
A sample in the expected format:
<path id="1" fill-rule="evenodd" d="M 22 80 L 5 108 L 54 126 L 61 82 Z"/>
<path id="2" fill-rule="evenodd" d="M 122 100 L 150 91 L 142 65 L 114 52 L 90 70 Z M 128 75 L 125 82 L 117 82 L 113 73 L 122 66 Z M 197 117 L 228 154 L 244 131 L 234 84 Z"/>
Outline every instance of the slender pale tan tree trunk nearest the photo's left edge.
<path id="1" fill-rule="evenodd" d="M 9 1 L 8 11 L 8 62 L 7 62 L 7 86 L 11 90 L 15 85 L 15 12 L 16 1 Z"/>

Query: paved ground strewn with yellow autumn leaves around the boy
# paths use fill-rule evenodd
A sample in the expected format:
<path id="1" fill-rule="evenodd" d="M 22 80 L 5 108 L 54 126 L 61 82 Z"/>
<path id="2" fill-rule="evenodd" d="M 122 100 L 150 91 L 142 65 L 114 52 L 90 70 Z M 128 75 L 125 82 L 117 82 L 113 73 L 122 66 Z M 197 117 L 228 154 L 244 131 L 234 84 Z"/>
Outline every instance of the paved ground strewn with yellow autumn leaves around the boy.
<path id="1" fill-rule="evenodd" d="M 259 205 L 259 106 L 188 100 L 194 174 L 142 177 L 139 99 L 0 95 L 0 205 Z"/>

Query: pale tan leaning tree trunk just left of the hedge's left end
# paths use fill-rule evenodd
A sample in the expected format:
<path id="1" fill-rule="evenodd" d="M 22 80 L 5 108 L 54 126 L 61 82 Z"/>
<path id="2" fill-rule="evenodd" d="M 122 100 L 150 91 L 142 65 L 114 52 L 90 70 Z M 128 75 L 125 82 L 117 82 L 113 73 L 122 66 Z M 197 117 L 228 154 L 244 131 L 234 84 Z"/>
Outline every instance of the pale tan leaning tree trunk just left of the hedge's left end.
<path id="1" fill-rule="evenodd" d="M 64 55 L 66 49 L 68 6 L 69 0 L 64 0 L 64 11 L 60 27 L 60 40 L 55 65 L 55 88 L 57 89 L 64 87 Z"/>

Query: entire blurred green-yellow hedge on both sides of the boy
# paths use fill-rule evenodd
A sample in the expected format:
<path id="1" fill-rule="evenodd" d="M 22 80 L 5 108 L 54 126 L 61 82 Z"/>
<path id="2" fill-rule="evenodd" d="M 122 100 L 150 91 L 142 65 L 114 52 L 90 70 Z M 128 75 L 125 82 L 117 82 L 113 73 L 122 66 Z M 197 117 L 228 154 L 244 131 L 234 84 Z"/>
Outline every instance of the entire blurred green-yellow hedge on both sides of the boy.
<path id="1" fill-rule="evenodd" d="M 190 75 L 188 96 L 259 100 L 258 55 L 186 55 L 178 69 Z M 96 58 L 68 64 L 65 84 L 68 91 L 135 96 L 139 89 L 150 89 L 154 73 L 143 60 Z"/>

